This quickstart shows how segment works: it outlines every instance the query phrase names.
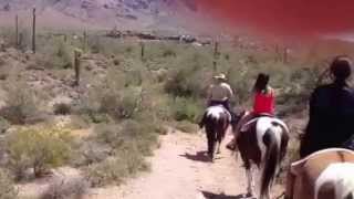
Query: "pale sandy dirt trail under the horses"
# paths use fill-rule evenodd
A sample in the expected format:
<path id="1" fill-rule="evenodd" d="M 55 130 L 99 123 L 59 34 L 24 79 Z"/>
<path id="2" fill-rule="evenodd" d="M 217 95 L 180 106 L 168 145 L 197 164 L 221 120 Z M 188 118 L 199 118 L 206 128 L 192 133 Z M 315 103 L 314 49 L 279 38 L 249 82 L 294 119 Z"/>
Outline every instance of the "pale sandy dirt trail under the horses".
<path id="1" fill-rule="evenodd" d="M 152 172 L 119 188 L 96 189 L 90 199 L 238 199 L 246 190 L 241 160 L 225 148 L 214 164 L 205 155 L 204 134 L 174 133 L 162 137 Z M 279 190 L 279 188 L 275 188 Z M 278 196 L 279 191 L 275 191 Z"/>

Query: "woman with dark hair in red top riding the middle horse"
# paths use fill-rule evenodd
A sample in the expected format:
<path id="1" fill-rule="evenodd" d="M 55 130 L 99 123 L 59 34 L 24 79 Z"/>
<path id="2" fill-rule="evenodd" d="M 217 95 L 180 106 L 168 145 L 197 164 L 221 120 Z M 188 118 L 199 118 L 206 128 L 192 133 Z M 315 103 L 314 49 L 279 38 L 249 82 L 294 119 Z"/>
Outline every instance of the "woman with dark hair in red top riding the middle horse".
<path id="1" fill-rule="evenodd" d="M 252 118 L 259 115 L 274 115 L 275 94 L 272 87 L 268 85 L 269 75 L 260 73 L 253 86 L 253 109 L 249 114 L 244 114 L 235 127 L 235 138 L 227 145 L 227 148 L 236 149 L 236 138 L 241 127 Z"/>

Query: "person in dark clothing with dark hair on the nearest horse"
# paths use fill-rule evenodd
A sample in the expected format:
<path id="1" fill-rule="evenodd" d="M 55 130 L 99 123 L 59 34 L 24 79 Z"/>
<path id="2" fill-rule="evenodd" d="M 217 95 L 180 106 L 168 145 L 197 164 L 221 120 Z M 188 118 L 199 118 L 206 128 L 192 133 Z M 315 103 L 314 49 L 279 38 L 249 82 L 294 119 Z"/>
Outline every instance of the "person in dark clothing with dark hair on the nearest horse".
<path id="1" fill-rule="evenodd" d="M 348 86 L 351 61 L 337 56 L 331 64 L 333 83 L 319 86 L 310 100 L 310 121 L 301 140 L 300 156 L 344 147 L 354 135 L 354 91 Z"/>

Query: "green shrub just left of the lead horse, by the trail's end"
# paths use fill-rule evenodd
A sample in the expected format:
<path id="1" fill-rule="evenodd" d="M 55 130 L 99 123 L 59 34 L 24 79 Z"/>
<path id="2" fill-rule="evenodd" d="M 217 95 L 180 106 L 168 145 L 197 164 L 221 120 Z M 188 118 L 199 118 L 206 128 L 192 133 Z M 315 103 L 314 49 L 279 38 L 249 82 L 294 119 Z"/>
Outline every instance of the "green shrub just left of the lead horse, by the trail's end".
<path id="1" fill-rule="evenodd" d="M 197 123 L 204 113 L 204 107 L 194 98 L 176 97 L 171 101 L 170 108 L 176 121 Z"/>

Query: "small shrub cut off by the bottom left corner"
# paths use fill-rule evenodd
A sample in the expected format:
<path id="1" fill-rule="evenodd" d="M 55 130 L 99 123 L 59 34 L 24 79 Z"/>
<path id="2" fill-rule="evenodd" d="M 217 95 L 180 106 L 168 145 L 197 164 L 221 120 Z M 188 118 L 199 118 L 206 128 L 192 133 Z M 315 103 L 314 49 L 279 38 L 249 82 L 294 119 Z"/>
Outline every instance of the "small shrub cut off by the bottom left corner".
<path id="1" fill-rule="evenodd" d="M 4 169 L 0 169 L 0 199 L 14 199 L 18 190 L 13 186 L 11 176 Z"/>

